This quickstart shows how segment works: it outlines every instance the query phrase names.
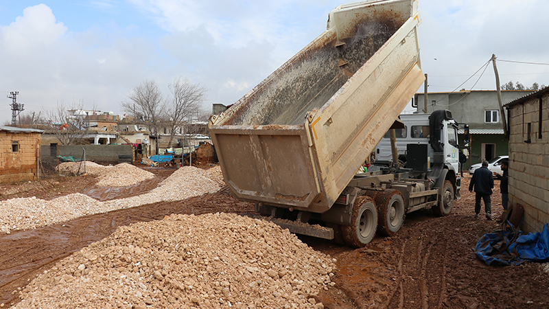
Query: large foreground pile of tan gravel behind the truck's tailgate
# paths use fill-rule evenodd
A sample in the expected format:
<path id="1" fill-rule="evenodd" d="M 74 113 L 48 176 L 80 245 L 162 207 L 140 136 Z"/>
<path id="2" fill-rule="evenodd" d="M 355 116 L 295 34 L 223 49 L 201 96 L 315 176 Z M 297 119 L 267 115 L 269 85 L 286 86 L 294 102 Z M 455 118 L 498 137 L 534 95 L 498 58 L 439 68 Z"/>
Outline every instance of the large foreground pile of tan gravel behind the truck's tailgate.
<path id="1" fill-rule="evenodd" d="M 61 260 L 14 308 L 323 308 L 334 262 L 270 222 L 172 215 Z"/>

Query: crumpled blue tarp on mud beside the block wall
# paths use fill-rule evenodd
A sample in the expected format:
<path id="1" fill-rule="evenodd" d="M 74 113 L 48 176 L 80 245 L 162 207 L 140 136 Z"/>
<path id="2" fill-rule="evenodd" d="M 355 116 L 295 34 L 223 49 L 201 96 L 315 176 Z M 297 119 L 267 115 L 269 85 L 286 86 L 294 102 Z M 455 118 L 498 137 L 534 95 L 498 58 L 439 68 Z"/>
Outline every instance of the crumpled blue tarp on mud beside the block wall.
<path id="1" fill-rule="evenodd" d="M 548 224 L 537 233 L 523 235 L 507 221 L 505 229 L 484 234 L 476 243 L 476 257 L 487 265 L 519 265 L 549 259 Z"/>

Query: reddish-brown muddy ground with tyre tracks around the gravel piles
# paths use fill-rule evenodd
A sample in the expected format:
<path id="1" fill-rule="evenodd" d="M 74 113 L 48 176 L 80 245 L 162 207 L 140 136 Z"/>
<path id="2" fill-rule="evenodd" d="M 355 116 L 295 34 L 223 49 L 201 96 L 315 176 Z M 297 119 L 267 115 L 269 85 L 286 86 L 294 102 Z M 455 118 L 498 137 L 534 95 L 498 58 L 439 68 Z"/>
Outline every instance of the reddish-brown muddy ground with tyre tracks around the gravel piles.
<path id="1" fill-rule="evenodd" d="M 142 167 L 142 166 L 141 166 Z M 8 186 L 9 195 L 51 199 L 75 192 L 93 192 L 95 198 L 130 196 L 150 190 L 174 169 L 147 168 L 156 174 L 139 189 L 100 192 L 91 176 L 57 177 L 35 183 Z M 463 179 L 467 187 L 470 176 Z M 502 212 L 496 181 L 492 196 L 493 218 Z M 8 192 L 4 190 L 5 192 Z M 186 201 L 156 203 L 77 218 L 30 231 L 0 236 L 0 304 L 18 301 L 18 290 L 58 260 L 101 240 L 120 225 L 161 219 L 169 214 L 210 212 L 250 213 L 253 204 L 237 201 L 224 188 Z M 495 220 L 474 219 L 474 195 L 466 189 L 454 203 L 450 216 L 439 218 L 430 211 L 406 216 L 396 236 L 375 238 L 362 249 L 301 238 L 318 251 L 338 259 L 336 286 L 318 297 L 326 308 L 548 308 L 549 274 L 539 264 L 486 266 L 473 248 L 484 233 L 499 228 Z"/>

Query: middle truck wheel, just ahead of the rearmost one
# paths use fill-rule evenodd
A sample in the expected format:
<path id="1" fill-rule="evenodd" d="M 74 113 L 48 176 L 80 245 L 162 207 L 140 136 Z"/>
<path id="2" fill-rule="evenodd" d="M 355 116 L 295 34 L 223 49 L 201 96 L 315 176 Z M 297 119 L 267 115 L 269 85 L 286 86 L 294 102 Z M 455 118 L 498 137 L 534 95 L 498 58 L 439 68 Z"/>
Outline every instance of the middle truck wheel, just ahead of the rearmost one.
<path id="1" fill-rule="evenodd" d="M 377 232 L 384 236 L 393 236 L 404 222 L 404 197 L 399 190 L 388 189 L 375 198 L 379 218 Z"/>

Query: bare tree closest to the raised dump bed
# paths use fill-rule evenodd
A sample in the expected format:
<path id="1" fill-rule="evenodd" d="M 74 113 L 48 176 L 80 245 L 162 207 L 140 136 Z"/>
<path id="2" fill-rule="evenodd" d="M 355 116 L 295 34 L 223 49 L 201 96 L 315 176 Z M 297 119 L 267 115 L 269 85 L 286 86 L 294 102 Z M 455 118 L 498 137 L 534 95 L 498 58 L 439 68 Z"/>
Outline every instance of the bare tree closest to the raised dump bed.
<path id="1" fill-rule="evenodd" d="M 176 131 L 185 134 L 185 121 L 190 121 L 193 115 L 200 113 L 200 106 L 205 99 L 206 89 L 200 84 L 192 84 L 187 78 L 176 78 L 173 84 L 168 85 L 172 93 L 172 100 L 167 102 L 166 119 L 170 126 L 170 141 L 168 147 L 172 146 L 172 140 Z M 181 132 L 183 131 L 183 132 Z"/>

